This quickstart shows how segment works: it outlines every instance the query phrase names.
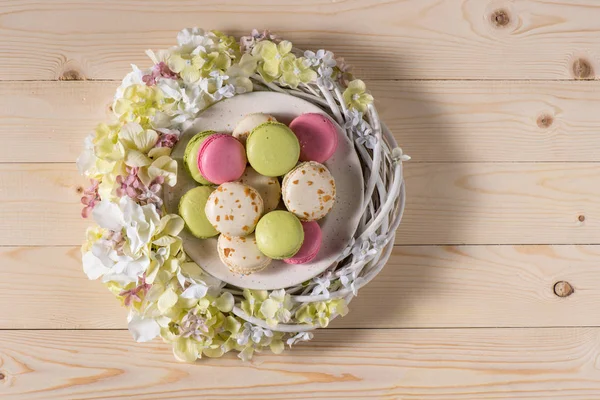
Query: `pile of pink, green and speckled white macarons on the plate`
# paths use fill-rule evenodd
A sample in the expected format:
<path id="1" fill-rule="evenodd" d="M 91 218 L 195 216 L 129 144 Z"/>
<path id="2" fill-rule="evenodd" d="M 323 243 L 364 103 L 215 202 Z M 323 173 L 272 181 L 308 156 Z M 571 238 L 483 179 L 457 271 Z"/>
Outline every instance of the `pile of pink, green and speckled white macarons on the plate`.
<path id="1" fill-rule="evenodd" d="M 182 196 L 179 214 L 195 237 L 220 235 L 219 257 L 233 272 L 252 274 L 273 259 L 308 263 L 323 240 L 316 221 L 335 203 L 335 180 L 323 163 L 337 140 L 329 118 L 312 113 L 289 127 L 254 113 L 232 134 L 198 133 L 183 162 L 199 186 Z"/>

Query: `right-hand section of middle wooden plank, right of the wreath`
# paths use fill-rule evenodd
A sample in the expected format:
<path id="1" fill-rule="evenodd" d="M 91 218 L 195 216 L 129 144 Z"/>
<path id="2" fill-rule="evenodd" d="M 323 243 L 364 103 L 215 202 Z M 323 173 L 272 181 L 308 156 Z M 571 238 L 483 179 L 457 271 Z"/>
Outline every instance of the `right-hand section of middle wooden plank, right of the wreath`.
<path id="1" fill-rule="evenodd" d="M 397 244 L 597 244 L 600 166 L 405 164 Z"/>

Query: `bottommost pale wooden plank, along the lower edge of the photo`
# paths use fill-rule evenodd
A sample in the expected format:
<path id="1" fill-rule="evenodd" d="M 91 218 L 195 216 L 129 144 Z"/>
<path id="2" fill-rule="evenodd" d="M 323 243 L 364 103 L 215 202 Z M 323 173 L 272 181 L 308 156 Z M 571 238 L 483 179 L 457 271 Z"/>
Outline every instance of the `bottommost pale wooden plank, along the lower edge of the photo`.
<path id="1" fill-rule="evenodd" d="M 6 400 L 594 399 L 599 328 L 324 330 L 282 355 L 173 360 L 124 331 L 0 332 Z"/>

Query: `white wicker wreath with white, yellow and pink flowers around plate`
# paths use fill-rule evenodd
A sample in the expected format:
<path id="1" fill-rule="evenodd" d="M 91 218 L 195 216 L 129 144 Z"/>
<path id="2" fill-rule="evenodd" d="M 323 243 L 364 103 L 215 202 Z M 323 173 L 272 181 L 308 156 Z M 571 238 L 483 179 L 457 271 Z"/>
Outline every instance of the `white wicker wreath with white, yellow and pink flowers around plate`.
<path id="1" fill-rule="evenodd" d="M 256 30 L 238 42 L 185 29 L 177 43 L 148 50 L 149 69 L 132 65 L 115 94 L 115 121 L 85 140 L 77 165 L 91 186 L 82 216 L 98 225 L 86 233 L 83 269 L 129 309 L 136 341 L 160 336 L 179 360 L 231 350 L 243 360 L 267 348 L 280 353 L 345 315 L 385 265 L 402 218 L 402 161 L 409 157 L 379 121 L 365 84 L 329 51 L 302 52 Z M 183 250 L 183 220 L 167 214 L 161 198 L 164 185 L 176 184 L 170 154 L 183 124 L 253 90 L 297 96 L 327 111 L 355 143 L 368 177 L 361 224 L 336 263 L 302 285 L 272 291 L 241 289 L 204 272 Z"/>

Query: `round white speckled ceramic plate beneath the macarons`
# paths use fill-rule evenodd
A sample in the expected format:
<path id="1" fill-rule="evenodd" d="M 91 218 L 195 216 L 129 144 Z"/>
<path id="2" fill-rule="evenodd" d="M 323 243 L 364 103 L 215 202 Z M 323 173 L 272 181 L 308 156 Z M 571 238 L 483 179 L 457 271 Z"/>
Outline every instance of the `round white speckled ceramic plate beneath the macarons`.
<path id="1" fill-rule="evenodd" d="M 183 153 L 188 141 L 198 132 L 214 130 L 231 133 L 236 123 L 246 114 L 263 112 L 273 115 L 278 121 L 289 124 L 303 113 L 327 114 L 305 100 L 274 92 L 254 92 L 238 95 L 217 103 L 200 114 L 186 127 L 172 157 L 178 163 L 177 185 L 166 187 L 165 204 L 170 213 L 177 213 L 179 199 L 198 184 L 183 167 Z M 217 239 L 197 239 L 186 229 L 181 236 L 186 253 L 204 270 L 216 278 L 235 286 L 248 289 L 279 289 L 298 285 L 325 271 L 346 248 L 360 220 L 363 205 L 363 175 L 354 146 L 338 127 L 338 148 L 325 164 L 336 183 L 336 203 L 331 212 L 319 220 L 323 231 L 323 245 L 319 254 L 310 263 L 288 265 L 273 261 L 266 269 L 252 274 L 240 275 L 231 272 L 219 259 Z"/>

